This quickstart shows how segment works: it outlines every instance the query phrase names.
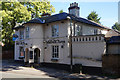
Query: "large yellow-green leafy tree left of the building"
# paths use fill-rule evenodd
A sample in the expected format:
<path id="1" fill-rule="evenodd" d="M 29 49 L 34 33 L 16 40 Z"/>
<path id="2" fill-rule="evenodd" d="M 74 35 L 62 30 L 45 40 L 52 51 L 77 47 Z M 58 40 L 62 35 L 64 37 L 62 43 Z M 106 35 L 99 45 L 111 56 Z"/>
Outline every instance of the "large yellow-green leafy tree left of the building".
<path id="1" fill-rule="evenodd" d="M 54 11 L 54 7 L 46 0 L 41 2 L 2 2 L 1 27 L 5 49 L 10 49 L 13 46 L 13 28 L 18 23 L 29 21 L 32 13 L 35 14 L 35 17 L 40 17 L 43 12 L 53 13 Z"/>

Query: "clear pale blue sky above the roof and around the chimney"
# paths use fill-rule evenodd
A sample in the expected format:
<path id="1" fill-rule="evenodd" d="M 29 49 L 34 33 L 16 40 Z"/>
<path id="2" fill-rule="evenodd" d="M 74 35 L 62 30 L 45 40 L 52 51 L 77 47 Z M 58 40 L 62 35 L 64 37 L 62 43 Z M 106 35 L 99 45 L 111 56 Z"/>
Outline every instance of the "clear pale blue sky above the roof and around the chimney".
<path id="1" fill-rule="evenodd" d="M 89 2 L 87 2 L 89 1 Z M 110 2 L 111 1 L 111 2 Z M 118 22 L 118 0 L 57 0 L 50 1 L 55 7 L 55 13 L 58 14 L 60 10 L 68 13 L 68 7 L 70 3 L 77 2 L 80 7 L 80 17 L 86 18 L 91 11 L 96 11 L 96 13 L 101 17 L 101 24 L 111 28 L 115 22 Z"/>

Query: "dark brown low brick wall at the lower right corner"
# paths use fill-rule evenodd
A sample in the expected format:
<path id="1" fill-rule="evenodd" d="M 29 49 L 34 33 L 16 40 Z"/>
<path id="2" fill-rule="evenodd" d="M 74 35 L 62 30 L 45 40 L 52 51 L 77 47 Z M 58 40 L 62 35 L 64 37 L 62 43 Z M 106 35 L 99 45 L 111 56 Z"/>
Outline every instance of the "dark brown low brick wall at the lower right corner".
<path id="1" fill-rule="evenodd" d="M 120 76 L 120 54 L 105 54 L 102 56 L 103 72 Z"/>

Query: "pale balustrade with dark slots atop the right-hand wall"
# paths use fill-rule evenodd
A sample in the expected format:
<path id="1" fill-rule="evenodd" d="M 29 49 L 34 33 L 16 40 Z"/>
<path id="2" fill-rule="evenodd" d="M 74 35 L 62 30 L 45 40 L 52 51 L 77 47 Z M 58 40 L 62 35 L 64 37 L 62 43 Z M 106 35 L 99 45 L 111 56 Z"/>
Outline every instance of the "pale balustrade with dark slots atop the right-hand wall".
<path id="1" fill-rule="evenodd" d="M 93 42 L 93 41 L 104 41 L 104 35 L 83 35 L 72 37 L 72 42 Z"/>

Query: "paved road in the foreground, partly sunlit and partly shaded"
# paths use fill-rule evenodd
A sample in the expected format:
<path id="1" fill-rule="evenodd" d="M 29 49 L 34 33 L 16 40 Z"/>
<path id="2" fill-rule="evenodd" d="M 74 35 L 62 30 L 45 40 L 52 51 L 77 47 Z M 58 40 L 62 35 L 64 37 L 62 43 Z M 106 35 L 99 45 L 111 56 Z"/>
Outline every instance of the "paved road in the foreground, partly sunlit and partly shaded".
<path id="1" fill-rule="evenodd" d="M 78 73 L 69 73 L 64 70 L 58 70 L 48 67 L 24 67 L 24 64 L 17 63 L 12 60 L 3 60 L 2 68 L 0 68 L 0 73 L 2 73 L 2 79 L 5 78 L 24 78 L 25 80 L 33 79 L 33 78 L 41 78 L 41 79 L 51 79 L 51 80 L 73 80 L 73 79 L 81 79 L 81 80 L 115 80 L 110 79 L 105 76 L 95 76 L 88 74 L 78 74 Z M 27 78 L 27 79 L 26 79 Z M 6 79 L 5 79 L 6 80 Z M 13 80 L 13 79 L 12 79 Z M 23 80 L 23 79 L 22 79 Z M 116 80 L 120 80 L 116 79 Z"/>

